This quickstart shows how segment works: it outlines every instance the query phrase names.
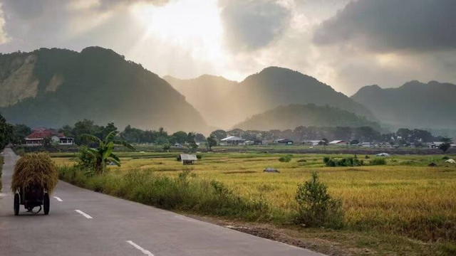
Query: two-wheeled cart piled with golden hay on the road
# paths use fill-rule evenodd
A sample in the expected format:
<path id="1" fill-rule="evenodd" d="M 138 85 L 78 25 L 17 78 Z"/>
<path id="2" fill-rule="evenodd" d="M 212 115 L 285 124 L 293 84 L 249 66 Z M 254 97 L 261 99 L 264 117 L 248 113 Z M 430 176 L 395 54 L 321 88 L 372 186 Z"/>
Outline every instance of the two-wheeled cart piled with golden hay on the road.
<path id="1" fill-rule="evenodd" d="M 14 214 L 19 214 L 19 205 L 30 213 L 49 213 L 49 194 L 56 188 L 58 171 L 51 156 L 46 153 L 25 154 L 14 167 L 11 189 L 14 194 Z M 39 207 L 39 210 L 33 208 Z"/>

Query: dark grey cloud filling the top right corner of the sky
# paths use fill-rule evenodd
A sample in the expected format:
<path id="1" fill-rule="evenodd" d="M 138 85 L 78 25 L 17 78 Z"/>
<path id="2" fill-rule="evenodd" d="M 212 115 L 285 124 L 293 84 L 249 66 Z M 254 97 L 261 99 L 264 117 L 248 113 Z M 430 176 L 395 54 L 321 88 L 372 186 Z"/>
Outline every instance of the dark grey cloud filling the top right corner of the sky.
<path id="1" fill-rule="evenodd" d="M 316 29 L 314 43 L 375 52 L 456 49 L 455 0 L 359 0 Z"/>

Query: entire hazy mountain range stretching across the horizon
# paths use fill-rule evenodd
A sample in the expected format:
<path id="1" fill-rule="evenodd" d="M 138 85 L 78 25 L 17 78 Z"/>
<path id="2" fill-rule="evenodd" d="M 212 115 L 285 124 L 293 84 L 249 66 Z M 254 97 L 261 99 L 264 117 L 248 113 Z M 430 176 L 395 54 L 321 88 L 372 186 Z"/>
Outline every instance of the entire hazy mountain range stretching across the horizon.
<path id="1" fill-rule="evenodd" d="M 298 126 L 455 127 L 456 85 L 411 81 L 352 97 L 294 70 L 264 68 L 241 82 L 213 75 L 160 78 L 113 50 L 41 48 L 0 54 L 0 112 L 14 124 L 80 119 L 141 129 L 292 129 Z"/>

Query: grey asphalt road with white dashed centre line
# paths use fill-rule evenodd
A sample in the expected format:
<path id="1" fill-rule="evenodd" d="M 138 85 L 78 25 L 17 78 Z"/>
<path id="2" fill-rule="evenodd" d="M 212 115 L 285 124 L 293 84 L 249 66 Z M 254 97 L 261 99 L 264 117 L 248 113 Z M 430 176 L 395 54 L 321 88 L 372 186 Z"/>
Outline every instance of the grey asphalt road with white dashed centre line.
<path id="1" fill-rule="evenodd" d="M 0 255 L 321 255 L 59 181 L 49 215 L 13 212 L 11 175 L 18 159 L 4 150 Z"/>

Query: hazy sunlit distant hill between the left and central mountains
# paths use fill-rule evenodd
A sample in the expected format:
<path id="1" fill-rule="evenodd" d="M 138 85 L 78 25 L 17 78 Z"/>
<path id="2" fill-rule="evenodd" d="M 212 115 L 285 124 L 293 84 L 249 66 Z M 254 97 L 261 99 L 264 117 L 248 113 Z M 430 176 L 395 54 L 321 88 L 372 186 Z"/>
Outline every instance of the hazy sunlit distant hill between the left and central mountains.
<path id="1" fill-rule="evenodd" d="M 241 110 L 235 109 L 230 92 L 239 87 L 235 81 L 214 75 L 181 80 L 165 76 L 167 82 L 195 107 L 213 127 L 232 127 Z"/>

